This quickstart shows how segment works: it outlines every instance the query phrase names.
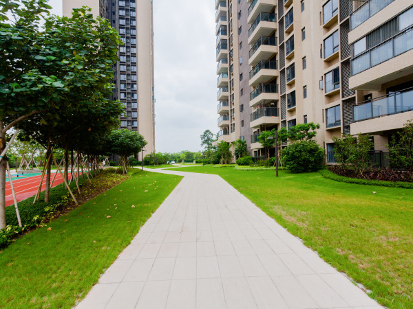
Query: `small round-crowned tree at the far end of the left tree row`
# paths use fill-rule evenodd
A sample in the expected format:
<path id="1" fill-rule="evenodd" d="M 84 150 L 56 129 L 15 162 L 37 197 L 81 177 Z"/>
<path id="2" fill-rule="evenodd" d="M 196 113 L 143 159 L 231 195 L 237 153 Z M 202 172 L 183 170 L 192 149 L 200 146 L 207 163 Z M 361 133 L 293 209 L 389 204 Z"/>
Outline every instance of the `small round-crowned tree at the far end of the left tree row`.
<path id="1" fill-rule="evenodd" d="M 108 140 L 108 151 L 120 156 L 123 166 L 123 174 L 127 173 L 127 158 L 140 152 L 147 141 L 137 132 L 127 129 L 112 130 Z"/>

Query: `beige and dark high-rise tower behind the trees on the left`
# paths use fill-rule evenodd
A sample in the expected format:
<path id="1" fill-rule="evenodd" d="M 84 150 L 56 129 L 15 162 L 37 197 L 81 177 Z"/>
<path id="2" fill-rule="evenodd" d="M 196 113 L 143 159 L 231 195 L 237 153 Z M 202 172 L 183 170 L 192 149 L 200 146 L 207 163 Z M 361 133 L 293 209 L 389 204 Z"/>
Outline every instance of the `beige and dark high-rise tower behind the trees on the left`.
<path id="1" fill-rule="evenodd" d="M 152 0 L 63 0 L 63 15 L 83 5 L 108 19 L 124 43 L 114 66 L 113 99 L 125 105 L 120 128 L 138 131 L 148 142 L 146 154 L 155 152 Z"/>

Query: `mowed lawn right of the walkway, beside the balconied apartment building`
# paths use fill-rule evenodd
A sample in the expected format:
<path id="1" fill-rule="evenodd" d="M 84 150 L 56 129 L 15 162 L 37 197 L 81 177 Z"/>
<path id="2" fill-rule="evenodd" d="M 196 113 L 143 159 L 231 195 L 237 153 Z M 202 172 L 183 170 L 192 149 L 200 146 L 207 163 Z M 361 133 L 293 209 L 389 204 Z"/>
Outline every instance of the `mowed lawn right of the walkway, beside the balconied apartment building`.
<path id="1" fill-rule="evenodd" d="M 413 308 L 413 190 L 338 183 L 321 174 L 178 168 L 219 174 L 389 308 Z M 372 192 L 377 192 L 373 194 Z"/>

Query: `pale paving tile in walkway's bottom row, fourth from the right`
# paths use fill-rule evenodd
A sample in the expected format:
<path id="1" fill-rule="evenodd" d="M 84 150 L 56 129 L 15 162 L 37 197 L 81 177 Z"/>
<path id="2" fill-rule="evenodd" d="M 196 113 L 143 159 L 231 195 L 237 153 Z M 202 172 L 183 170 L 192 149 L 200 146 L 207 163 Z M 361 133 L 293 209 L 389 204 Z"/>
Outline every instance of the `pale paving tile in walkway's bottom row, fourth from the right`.
<path id="1" fill-rule="evenodd" d="M 247 277 L 246 280 L 259 309 L 288 308 L 270 277 Z"/>

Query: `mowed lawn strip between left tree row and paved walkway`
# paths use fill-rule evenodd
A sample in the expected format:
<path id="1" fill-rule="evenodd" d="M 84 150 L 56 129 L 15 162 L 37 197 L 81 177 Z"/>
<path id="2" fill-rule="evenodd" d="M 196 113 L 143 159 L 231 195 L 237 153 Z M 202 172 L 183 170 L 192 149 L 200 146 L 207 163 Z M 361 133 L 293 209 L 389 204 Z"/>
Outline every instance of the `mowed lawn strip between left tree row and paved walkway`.
<path id="1" fill-rule="evenodd" d="M 0 253 L 0 308 L 71 308 L 85 297 L 182 179 L 130 174 Z"/>

